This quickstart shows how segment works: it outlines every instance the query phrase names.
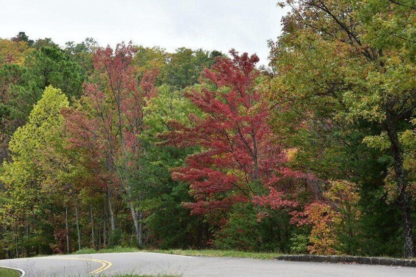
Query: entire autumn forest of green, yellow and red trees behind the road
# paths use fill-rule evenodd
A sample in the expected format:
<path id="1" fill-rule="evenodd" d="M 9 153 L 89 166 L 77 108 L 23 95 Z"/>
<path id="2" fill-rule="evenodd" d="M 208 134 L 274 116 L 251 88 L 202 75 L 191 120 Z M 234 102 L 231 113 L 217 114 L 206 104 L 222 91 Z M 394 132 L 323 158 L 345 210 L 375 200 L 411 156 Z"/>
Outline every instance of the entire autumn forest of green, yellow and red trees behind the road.
<path id="1" fill-rule="evenodd" d="M 0 258 L 415 257 L 415 1 L 277 4 L 268 66 L 234 49 L 0 39 Z"/>

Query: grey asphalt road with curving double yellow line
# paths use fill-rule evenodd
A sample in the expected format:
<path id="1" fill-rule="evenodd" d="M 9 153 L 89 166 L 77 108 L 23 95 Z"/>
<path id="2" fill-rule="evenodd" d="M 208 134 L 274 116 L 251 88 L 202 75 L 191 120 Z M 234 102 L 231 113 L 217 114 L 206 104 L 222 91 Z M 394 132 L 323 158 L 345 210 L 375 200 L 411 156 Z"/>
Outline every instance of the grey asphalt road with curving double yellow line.
<path id="1" fill-rule="evenodd" d="M 196 276 L 416 277 L 416 268 L 247 258 L 188 257 L 148 252 L 62 255 L 0 260 L 25 277 L 112 276 L 118 273 Z"/>

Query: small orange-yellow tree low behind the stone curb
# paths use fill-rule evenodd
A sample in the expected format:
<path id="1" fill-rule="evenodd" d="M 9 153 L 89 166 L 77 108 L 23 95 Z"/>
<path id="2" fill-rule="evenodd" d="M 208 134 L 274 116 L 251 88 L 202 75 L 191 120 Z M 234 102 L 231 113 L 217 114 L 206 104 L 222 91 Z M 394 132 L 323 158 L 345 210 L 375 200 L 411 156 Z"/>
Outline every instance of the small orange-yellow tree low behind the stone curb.
<path id="1" fill-rule="evenodd" d="M 292 222 L 311 227 L 307 249 L 312 254 L 357 253 L 361 236 L 357 186 L 342 180 L 329 183 L 322 199 L 308 203 Z"/>

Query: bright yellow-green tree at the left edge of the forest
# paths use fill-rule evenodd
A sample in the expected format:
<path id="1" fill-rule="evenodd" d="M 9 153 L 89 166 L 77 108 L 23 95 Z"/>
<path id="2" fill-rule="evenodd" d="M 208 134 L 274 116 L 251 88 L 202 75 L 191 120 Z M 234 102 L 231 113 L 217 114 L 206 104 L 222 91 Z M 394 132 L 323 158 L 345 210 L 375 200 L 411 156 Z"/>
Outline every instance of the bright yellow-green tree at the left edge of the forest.
<path id="1" fill-rule="evenodd" d="M 61 110 L 68 107 L 68 104 L 66 96 L 60 90 L 49 86 L 42 99 L 34 105 L 27 124 L 19 127 L 10 141 L 12 160 L 4 162 L 0 175 L 0 180 L 6 186 L 4 194 L 7 196 L 7 201 L 1 203 L 0 224 L 5 230 L 15 234 L 16 256 L 19 256 L 18 234 L 23 228 L 26 228 L 26 254 L 32 253 L 29 248 L 29 230 L 35 238 L 42 235 L 42 232 L 36 234 L 36 231 L 42 227 L 50 200 L 43 193 L 42 182 L 46 176 L 44 168 L 37 161 L 42 159 L 42 151 L 53 144 L 53 138 L 64 122 Z M 41 244 L 46 246 L 48 240 L 40 239 Z M 23 249 L 22 239 L 22 252 Z"/>

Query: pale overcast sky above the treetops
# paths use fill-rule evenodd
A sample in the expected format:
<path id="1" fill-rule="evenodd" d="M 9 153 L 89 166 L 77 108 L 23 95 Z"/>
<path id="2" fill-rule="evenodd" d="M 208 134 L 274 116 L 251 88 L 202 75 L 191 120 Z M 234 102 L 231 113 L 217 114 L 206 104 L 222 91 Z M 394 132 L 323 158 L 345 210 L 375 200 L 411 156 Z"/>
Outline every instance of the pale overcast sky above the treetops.
<path id="1" fill-rule="evenodd" d="M 63 46 L 93 37 L 100 45 L 133 41 L 227 52 L 256 52 L 267 64 L 267 40 L 280 33 L 285 11 L 277 0 L 7 0 L 0 37 L 25 31 Z"/>

